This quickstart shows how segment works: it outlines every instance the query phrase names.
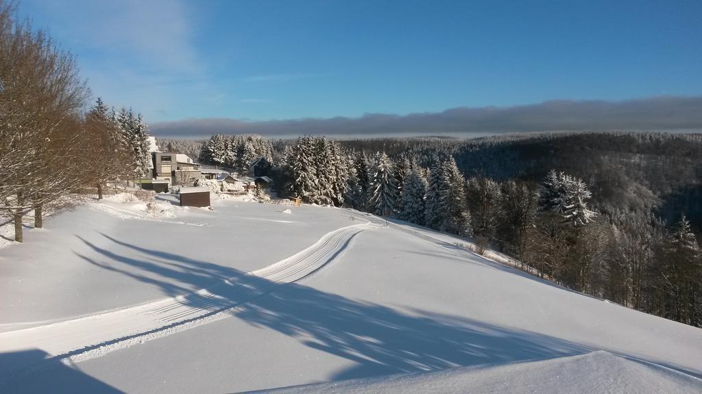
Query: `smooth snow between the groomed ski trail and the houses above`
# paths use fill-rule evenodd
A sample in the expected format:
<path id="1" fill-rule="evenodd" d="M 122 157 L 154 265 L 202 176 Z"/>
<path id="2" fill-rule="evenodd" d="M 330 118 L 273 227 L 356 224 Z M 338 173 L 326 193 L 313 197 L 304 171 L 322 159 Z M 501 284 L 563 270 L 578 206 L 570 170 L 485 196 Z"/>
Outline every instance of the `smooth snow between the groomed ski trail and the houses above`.
<path id="1" fill-rule="evenodd" d="M 63 212 L 2 250 L 0 332 L 188 294 L 352 224 L 312 207 L 282 223 L 276 205 L 213 201 L 215 211 L 184 209 L 164 195 L 157 207 L 170 213 L 154 217 L 142 201 L 108 201 L 131 201 L 125 196 Z"/>

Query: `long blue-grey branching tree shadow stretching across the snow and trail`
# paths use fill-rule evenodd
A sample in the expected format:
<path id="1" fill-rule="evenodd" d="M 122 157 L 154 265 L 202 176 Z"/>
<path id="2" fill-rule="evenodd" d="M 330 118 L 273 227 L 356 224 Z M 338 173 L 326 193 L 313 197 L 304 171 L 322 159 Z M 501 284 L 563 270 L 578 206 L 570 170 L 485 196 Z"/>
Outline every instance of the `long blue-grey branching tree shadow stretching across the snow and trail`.
<path id="1" fill-rule="evenodd" d="M 354 367 L 331 376 L 332 380 L 537 360 L 592 350 L 555 337 L 499 327 L 470 318 L 421 310 L 400 311 L 296 283 L 280 285 L 245 275 L 236 269 L 105 237 L 116 246 L 138 252 L 139 257 L 124 257 L 112 252 L 110 247 L 98 247 L 86 240 L 84 242 L 100 253 L 105 261 L 81 257 L 105 269 L 158 285 L 166 294 L 183 294 L 187 292 L 187 287 L 206 279 L 218 282 L 220 285 L 208 287 L 208 290 L 229 301 L 224 305 L 212 306 L 207 315 L 229 310 L 232 315 L 251 325 L 268 327 L 310 348 L 356 363 Z M 114 249 L 119 250 L 119 247 Z M 154 273 L 176 279 L 185 286 L 154 278 Z M 225 279 L 232 285 L 225 285 Z M 251 291 L 235 292 L 233 288 Z M 206 305 L 206 300 L 196 294 L 186 299 L 186 302 L 196 306 Z M 167 330 L 190 321 L 154 331 Z M 236 332 L 231 334 L 237 335 Z M 115 342 L 120 340 L 116 339 Z"/>

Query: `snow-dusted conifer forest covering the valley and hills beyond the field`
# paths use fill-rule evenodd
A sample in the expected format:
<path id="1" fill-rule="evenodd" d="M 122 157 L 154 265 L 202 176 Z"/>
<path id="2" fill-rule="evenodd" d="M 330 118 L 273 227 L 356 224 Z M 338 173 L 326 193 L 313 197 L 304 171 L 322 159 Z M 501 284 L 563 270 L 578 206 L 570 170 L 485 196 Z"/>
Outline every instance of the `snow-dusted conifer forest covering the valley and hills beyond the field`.
<path id="1" fill-rule="evenodd" d="M 281 197 L 472 236 L 477 252 L 492 247 L 565 287 L 702 327 L 701 135 L 159 143 L 232 168 L 234 147 L 249 144 L 274 161 Z"/>

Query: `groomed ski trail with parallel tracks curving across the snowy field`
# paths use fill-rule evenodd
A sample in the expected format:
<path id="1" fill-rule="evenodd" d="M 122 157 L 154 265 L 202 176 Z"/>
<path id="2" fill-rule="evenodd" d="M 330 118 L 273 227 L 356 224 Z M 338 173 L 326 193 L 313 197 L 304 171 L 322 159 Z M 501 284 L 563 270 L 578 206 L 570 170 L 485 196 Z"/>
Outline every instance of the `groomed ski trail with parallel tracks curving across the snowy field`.
<path id="1" fill-rule="evenodd" d="M 240 277 L 192 294 L 0 333 L 0 353 L 39 348 L 53 359 L 70 357 L 73 361 L 87 360 L 135 343 L 220 320 L 230 315 L 231 308 L 322 269 L 336 259 L 358 233 L 375 228 L 378 226 L 370 222 L 343 227 L 327 233 L 314 245 L 282 261 L 242 273 Z"/>

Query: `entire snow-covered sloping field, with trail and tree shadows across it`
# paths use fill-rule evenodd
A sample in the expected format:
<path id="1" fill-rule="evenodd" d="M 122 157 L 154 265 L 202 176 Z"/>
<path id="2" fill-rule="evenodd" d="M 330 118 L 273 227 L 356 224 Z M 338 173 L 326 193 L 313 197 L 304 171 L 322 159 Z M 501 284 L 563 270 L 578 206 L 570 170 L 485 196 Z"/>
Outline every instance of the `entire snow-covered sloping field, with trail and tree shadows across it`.
<path id="1" fill-rule="evenodd" d="M 702 392 L 702 330 L 466 240 L 160 198 L 81 205 L 0 250 L 0 392 Z"/>

